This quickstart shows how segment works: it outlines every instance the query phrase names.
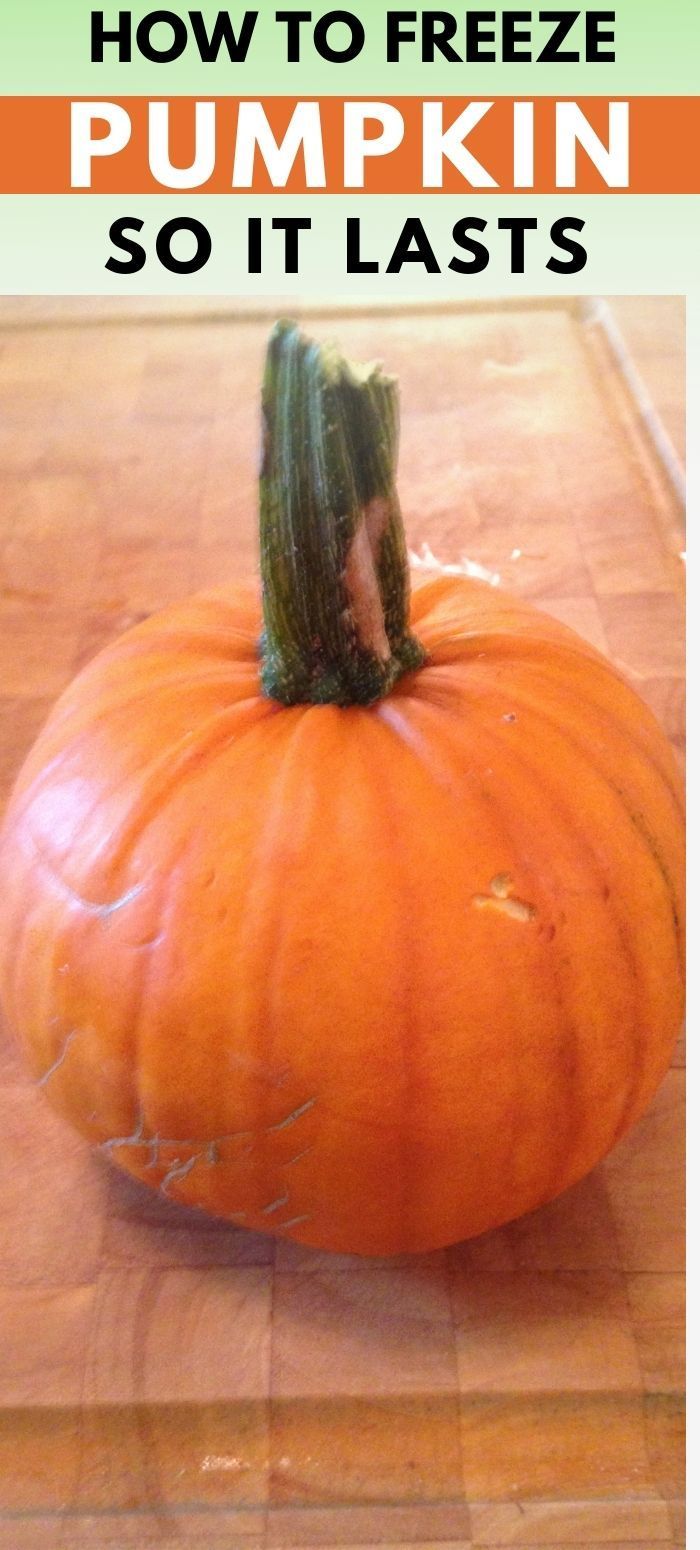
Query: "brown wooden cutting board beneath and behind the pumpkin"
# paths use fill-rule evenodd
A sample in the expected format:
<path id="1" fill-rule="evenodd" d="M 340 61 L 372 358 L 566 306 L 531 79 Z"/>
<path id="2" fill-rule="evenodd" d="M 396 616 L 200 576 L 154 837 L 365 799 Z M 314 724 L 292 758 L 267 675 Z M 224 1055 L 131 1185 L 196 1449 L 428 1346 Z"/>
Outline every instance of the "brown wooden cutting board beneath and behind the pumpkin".
<path id="1" fill-rule="evenodd" d="M 217 313 L 5 304 L 3 794 L 99 646 L 254 566 L 268 324 Z M 418 561 L 477 564 L 573 625 L 680 747 L 681 304 L 616 319 L 629 360 L 568 304 L 313 327 L 401 377 Z M 584 1184 L 373 1262 L 141 1190 L 9 1043 L 0 1080 L 0 1545 L 683 1542 L 681 1046 Z"/>

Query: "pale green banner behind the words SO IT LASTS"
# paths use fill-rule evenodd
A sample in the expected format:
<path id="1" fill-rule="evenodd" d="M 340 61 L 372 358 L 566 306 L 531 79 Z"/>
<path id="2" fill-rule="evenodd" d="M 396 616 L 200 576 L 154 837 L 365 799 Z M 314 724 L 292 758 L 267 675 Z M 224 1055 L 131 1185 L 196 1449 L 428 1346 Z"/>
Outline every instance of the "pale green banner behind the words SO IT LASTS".
<path id="1" fill-rule="evenodd" d="M 172 274 L 158 262 L 155 243 L 170 220 L 195 217 L 212 242 L 206 265 L 192 274 Z M 551 223 L 568 214 L 584 220 L 576 240 L 587 248 L 585 268 L 556 274 L 547 268 L 551 256 L 565 257 L 550 237 Z M 130 240 L 147 253 L 139 273 L 125 276 L 105 268 L 112 257 L 124 260 L 124 248 L 110 240 L 116 215 L 141 220 Z M 400 274 L 387 274 L 404 222 L 420 219 L 440 273 L 407 262 Z M 452 240 L 452 228 L 465 215 L 486 222 L 475 232 L 489 251 L 479 274 L 449 268 L 465 251 Z M 285 273 L 283 232 L 271 231 L 280 217 L 310 219 L 311 229 L 299 234 L 299 274 Z M 537 220 L 525 232 L 522 274 L 511 273 L 511 237 L 499 231 L 499 219 Z M 248 273 L 248 222 L 262 220 L 262 274 Z M 376 262 L 376 274 L 347 273 L 347 222 L 359 220 L 362 262 Z M 697 200 L 646 195 L 488 195 L 457 198 L 403 195 L 45 195 L 0 200 L 6 239 L 0 251 L 0 291 L 26 294 L 186 294 L 186 296 L 300 296 L 367 298 L 376 301 L 420 296 L 465 299 L 475 296 L 567 296 L 616 291 L 627 294 L 681 294 L 697 285 L 700 273 L 700 223 Z M 187 259 L 195 239 L 183 232 L 172 242 L 175 257 Z"/>

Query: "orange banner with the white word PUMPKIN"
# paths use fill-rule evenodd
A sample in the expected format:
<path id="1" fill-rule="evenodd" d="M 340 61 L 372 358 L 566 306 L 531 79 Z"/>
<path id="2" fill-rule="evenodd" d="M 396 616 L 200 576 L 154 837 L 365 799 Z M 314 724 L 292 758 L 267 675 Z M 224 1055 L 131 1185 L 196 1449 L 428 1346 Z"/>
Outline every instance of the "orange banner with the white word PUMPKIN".
<path id="1" fill-rule="evenodd" d="M 700 98 L 198 101 L 2 98 L 0 192 L 700 192 Z"/>

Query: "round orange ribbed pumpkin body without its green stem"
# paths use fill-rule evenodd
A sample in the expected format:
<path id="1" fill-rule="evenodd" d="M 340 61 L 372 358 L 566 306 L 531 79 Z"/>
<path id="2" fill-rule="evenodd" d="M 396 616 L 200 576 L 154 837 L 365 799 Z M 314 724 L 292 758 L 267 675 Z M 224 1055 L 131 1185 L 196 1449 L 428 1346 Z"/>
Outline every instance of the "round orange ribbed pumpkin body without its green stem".
<path id="1" fill-rule="evenodd" d="M 681 1017 L 664 736 L 564 626 L 441 578 L 370 708 L 259 691 L 256 594 L 104 651 L 0 840 L 0 987 L 51 1102 L 173 1200 L 358 1254 L 581 1178 Z M 60 1159 L 56 1159 L 60 1166 Z"/>

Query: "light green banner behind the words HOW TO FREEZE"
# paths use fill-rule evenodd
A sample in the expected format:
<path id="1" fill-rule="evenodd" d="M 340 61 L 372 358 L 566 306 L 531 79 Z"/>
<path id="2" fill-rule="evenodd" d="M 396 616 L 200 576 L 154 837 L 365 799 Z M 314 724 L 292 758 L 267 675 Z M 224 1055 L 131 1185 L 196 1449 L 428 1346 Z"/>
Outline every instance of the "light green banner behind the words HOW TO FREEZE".
<path id="1" fill-rule="evenodd" d="M 107 31 L 115 31 L 118 12 L 127 11 L 132 19 L 132 62 L 119 64 L 115 43 L 104 48 L 104 62 L 90 60 L 90 14 L 93 9 L 104 12 Z M 457 95 L 483 96 L 485 93 L 520 95 L 581 95 L 599 93 L 612 95 L 694 95 L 698 84 L 698 8 L 695 0 L 596 0 L 592 11 L 613 16 L 613 23 L 601 23 L 601 33 L 609 26 L 615 31 L 615 62 L 606 64 L 489 64 L 475 62 L 465 65 L 448 62 L 437 54 L 435 62 L 421 64 L 420 46 L 404 43 L 398 64 L 387 64 L 387 11 L 410 11 L 410 6 L 387 6 L 379 0 L 347 0 L 344 9 L 353 12 L 365 31 L 365 43 L 358 59 L 347 64 L 328 64 L 319 57 L 313 46 L 313 26 L 300 26 L 300 62 L 290 65 L 287 60 L 287 23 L 276 22 L 277 11 L 311 11 L 314 22 L 338 9 L 335 5 L 276 5 L 273 0 L 262 0 L 256 5 L 231 5 L 229 14 L 234 31 L 238 36 L 246 11 L 256 11 L 257 20 L 252 31 L 248 59 L 245 64 L 231 64 L 225 50 L 214 64 L 203 64 L 192 39 L 189 26 L 189 42 L 180 59 L 170 64 L 150 64 L 135 46 L 135 34 L 142 17 L 155 11 L 170 11 L 181 17 L 197 9 L 208 33 L 220 11 L 226 9 L 218 0 L 200 0 L 198 6 L 181 5 L 170 0 L 164 6 L 141 0 L 129 6 L 125 0 L 93 6 L 90 0 L 3 0 L 0 22 L 0 93 L 57 93 L 70 96 L 96 96 L 101 93 L 136 93 L 136 95 L 173 95 L 173 93 L 339 93 L 376 95 L 376 93 L 409 93 L 409 95 Z M 418 17 L 431 6 L 413 6 Z M 533 17 L 533 53 L 545 43 L 551 26 L 537 22 L 539 8 L 523 6 L 517 0 L 502 8 L 443 3 L 435 6 L 440 12 L 457 20 L 454 48 L 465 53 L 466 25 L 465 14 L 472 11 L 496 11 L 496 34 L 500 34 L 502 11 L 517 11 L 523 17 Z M 556 6 L 544 6 L 556 11 Z M 561 8 L 562 11 L 565 8 Z M 573 8 L 571 8 L 573 9 Z M 582 50 L 585 43 L 584 16 L 578 12 L 578 22 L 571 28 L 562 50 Z M 406 28 L 404 28 L 406 29 Z M 520 31 L 527 29 L 527 23 Z M 417 28 L 420 34 L 420 26 Z M 483 25 L 488 31 L 488 23 Z M 153 48 L 164 48 L 172 40 L 172 29 L 161 25 L 153 29 Z M 328 42 L 335 48 L 342 48 L 348 40 L 348 33 L 341 25 L 328 33 Z M 525 51 L 527 45 L 519 43 L 517 51 Z M 488 48 L 485 46 L 486 53 Z"/>

